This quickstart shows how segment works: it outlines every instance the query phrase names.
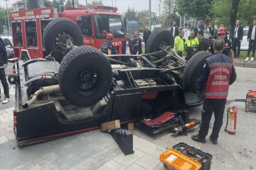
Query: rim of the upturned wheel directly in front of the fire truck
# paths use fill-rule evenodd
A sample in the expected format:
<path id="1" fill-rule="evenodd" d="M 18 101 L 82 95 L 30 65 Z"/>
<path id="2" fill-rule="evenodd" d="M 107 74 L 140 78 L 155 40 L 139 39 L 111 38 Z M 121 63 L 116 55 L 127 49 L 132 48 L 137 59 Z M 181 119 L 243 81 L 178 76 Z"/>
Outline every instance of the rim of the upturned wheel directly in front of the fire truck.
<path id="1" fill-rule="evenodd" d="M 64 45 L 70 45 L 68 44 L 68 39 L 71 40 L 72 44 L 74 44 L 74 40 L 71 37 L 71 35 L 69 35 L 68 33 L 59 33 L 58 37 L 56 37 L 56 45 L 59 45 L 59 43 L 63 43 Z M 66 54 L 66 47 L 63 46 L 59 46 L 57 48 L 58 52 L 62 53 L 62 54 Z"/>

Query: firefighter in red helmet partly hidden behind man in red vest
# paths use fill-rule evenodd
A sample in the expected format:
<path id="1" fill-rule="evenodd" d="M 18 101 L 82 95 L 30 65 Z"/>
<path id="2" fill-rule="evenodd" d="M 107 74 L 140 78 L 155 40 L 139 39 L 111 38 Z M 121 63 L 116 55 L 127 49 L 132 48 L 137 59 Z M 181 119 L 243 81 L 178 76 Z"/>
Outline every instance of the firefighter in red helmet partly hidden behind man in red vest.
<path id="1" fill-rule="evenodd" d="M 217 30 L 217 38 L 222 38 L 224 40 L 224 45 L 225 48 L 222 52 L 222 54 L 230 57 L 230 59 L 232 60 L 233 65 L 235 65 L 235 58 L 234 58 L 234 53 L 232 50 L 232 46 L 231 46 L 231 42 L 228 40 L 228 38 L 226 38 L 227 35 L 227 30 L 225 27 L 221 26 L 219 27 L 219 29 Z M 213 43 L 210 45 L 210 47 L 208 48 L 208 52 L 214 54 L 214 49 L 213 49 Z"/>

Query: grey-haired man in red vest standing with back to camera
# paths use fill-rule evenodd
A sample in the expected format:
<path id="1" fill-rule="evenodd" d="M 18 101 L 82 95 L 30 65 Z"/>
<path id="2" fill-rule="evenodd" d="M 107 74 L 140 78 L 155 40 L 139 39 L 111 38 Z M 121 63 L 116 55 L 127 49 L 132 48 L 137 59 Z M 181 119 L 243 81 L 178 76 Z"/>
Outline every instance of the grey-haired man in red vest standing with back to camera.
<path id="1" fill-rule="evenodd" d="M 208 134 L 210 118 L 214 112 L 214 127 L 210 140 L 212 144 L 217 144 L 219 131 L 222 126 L 223 113 L 228 97 L 229 85 L 236 80 L 235 68 L 232 60 L 222 54 L 224 50 L 224 40 L 217 38 L 214 41 L 214 55 L 205 60 L 198 83 L 198 96 L 204 91 L 204 105 L 202 108 L 202 123 L 197 135 L 193 135 L 192 139 L 197 142 L 205 143 L 205 137 Z"/>

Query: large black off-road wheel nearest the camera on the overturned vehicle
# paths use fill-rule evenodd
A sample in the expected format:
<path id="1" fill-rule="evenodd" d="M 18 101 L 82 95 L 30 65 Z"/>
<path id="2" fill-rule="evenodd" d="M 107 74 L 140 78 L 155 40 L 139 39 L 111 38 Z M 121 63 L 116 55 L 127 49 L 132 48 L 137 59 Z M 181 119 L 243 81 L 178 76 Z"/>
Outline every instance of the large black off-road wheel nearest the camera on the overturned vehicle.
<path id="1" fill-rule="evenodd" d="M 59 87 L 67 101 L 88 107 L 100 101 L 111 88 L 109 60 L 95 47 L 71 50 L 59 67 Z"/>

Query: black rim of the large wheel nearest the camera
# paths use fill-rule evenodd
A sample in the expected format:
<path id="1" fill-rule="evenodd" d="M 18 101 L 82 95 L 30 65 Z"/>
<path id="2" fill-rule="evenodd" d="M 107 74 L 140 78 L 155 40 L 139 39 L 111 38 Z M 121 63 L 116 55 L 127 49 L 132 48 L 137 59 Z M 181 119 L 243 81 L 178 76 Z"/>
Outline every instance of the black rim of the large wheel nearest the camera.
<path id="1" fill-rule="evenodd" d="M 94 67 L 85 67 L 78 71 L 75 77 L 76 91 L 82 96 L 94 94 L 101 86 L 102 74 L 99 69 Z"/>

